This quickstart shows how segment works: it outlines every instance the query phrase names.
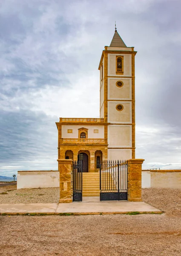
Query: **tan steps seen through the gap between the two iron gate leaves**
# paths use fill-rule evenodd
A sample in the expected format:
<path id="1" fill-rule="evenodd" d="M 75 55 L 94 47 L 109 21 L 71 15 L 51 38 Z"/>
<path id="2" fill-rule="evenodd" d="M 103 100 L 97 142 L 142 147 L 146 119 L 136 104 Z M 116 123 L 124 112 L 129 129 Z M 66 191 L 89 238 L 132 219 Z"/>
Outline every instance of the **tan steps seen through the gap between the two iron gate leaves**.
<path id="1" fill-rule="evenodd" d="M 82 196 L 99 196 L 100 183 L 99 172 L 83 172 Z"/>

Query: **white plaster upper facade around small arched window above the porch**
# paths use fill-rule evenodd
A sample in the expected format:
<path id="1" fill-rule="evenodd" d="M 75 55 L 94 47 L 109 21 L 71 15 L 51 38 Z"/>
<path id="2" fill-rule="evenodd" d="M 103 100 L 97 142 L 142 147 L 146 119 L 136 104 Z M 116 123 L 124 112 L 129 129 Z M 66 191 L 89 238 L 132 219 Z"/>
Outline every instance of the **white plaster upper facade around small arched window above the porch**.
<path id="1" fill-rule="evenodd" d="M 62 138 L 77 139 L 80 128 L 88 129 L 88 139 L 104 139 L 103 125 L 62 125 Z M 68 129 L 72 129 L 72 134 L 67 133 Z M 94 130 L 99 130 L 99 132 L 95 134 Z"/>

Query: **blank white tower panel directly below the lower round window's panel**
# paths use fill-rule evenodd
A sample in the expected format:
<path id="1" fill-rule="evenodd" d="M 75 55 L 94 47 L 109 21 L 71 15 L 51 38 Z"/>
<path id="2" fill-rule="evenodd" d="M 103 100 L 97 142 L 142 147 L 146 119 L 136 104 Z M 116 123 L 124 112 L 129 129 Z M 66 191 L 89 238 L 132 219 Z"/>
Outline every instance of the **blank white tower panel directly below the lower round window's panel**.
<path id="1" fill-rule="evenodd" d="M 108 144 L 109 147 L 131 148 L 131 125 L 108 125 Z"/>

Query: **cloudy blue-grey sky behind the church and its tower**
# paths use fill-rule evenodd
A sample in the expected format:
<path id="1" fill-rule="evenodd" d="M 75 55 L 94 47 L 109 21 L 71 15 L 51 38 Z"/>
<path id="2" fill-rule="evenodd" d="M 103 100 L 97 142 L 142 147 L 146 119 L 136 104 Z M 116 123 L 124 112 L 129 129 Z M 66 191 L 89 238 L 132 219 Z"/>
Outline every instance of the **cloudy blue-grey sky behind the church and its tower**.
<path id="1" fill-rule="evenodd" d="M 0 175 L 57 169 L 59 117 L 99 117 L 98 64 L 138 51 L 136 158 L 181 169 L 180 0 L 0 0 Z"/>

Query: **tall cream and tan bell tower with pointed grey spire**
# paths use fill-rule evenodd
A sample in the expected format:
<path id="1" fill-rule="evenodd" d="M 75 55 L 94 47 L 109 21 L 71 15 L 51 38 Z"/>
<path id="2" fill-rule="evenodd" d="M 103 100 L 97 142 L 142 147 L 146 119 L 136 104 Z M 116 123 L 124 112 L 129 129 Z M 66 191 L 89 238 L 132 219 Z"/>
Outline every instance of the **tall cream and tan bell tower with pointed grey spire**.
<path id="1" fill-rule="evenodd" d="M 115 28 L 99 64 L 100 118 L 108 139 L 108 159 L 135 158 L 135 55 Z"/>

